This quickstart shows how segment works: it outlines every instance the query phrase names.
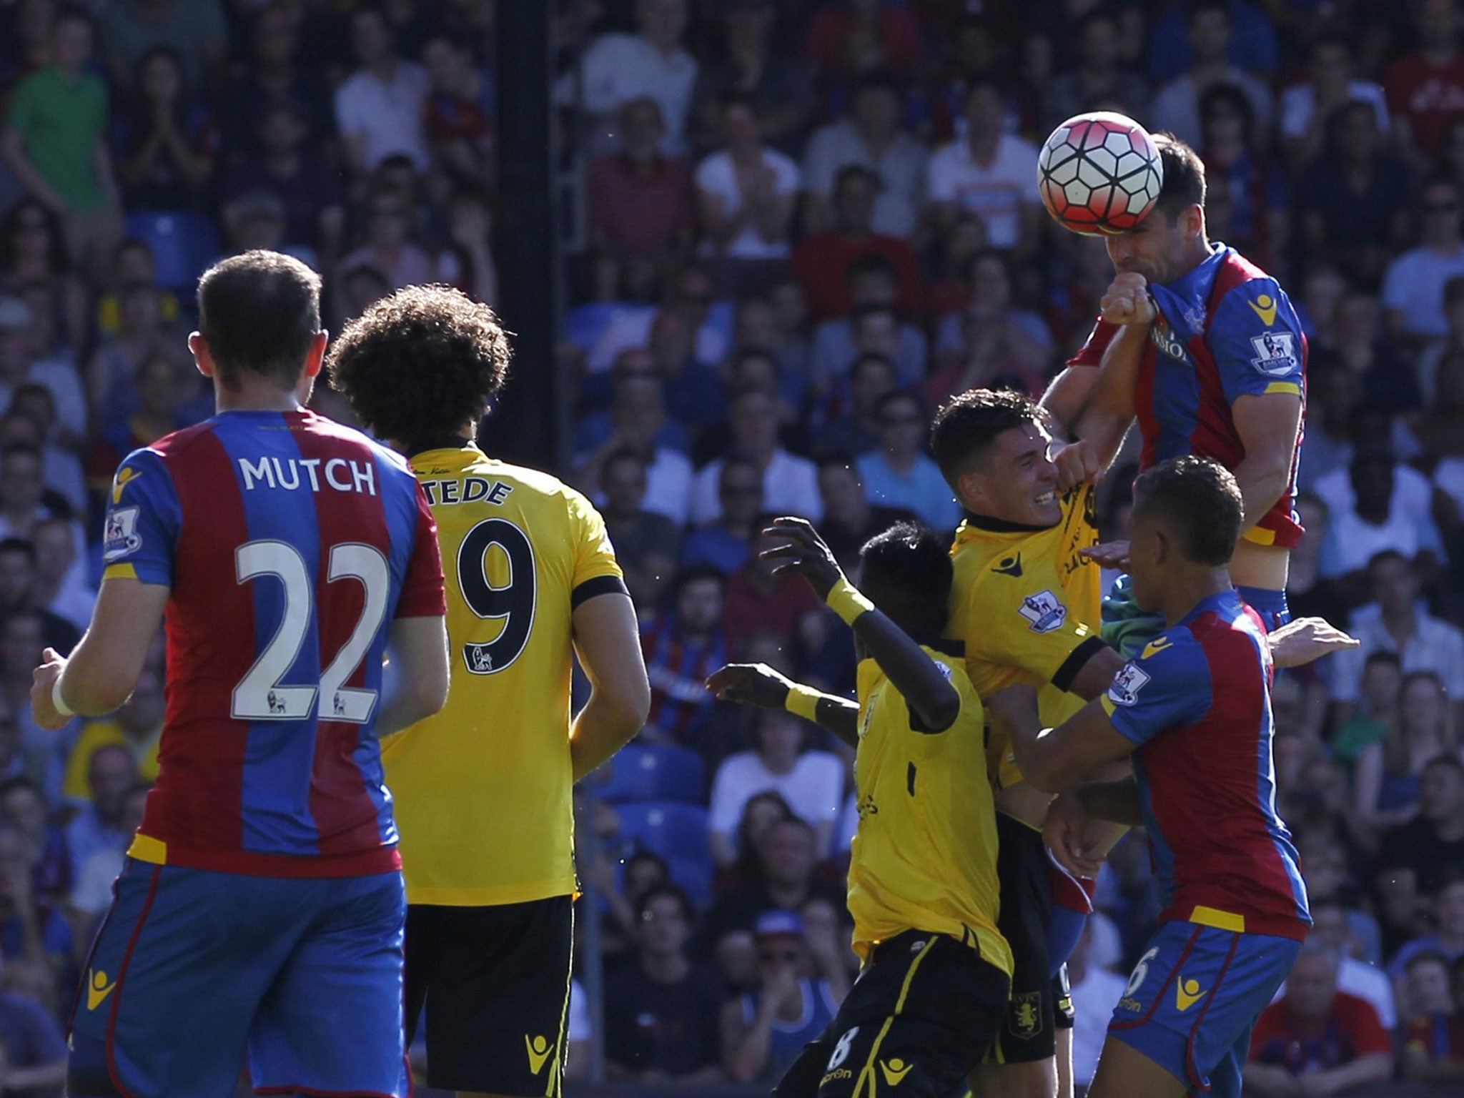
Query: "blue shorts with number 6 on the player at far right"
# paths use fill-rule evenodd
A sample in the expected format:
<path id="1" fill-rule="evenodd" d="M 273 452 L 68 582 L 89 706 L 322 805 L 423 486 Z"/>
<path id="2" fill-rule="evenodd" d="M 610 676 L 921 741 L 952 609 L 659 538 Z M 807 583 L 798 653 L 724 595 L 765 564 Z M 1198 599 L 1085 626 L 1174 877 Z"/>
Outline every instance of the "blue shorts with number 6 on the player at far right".
<path id="1" fill-rule="evenodd" d="M 1165 922 L 1133 968 L 1108 1037 L 1214 1098 L 1240 1098 L 1250 1031 L 1301 943 Z"/>

